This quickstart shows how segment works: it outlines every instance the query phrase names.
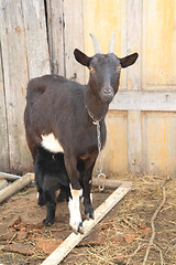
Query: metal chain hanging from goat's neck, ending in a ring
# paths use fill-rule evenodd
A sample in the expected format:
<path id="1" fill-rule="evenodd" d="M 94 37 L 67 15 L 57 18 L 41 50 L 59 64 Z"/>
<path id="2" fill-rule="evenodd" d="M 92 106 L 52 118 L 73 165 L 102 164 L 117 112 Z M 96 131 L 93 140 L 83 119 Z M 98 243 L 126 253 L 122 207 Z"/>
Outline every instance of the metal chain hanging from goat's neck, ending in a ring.
<path id="1" fill-rule="evenodd" d="M 94 115 L 90 113 L 90 110 L 88 109 L 88 107 L 86 106 L 88 115 L 90 116 L 90 118 L 92 119 L 92 124 L 97 126 L 97 140 L 98 140 L 98 155 L 99 155 L 99 174 L 98 174 L 98 179 L 100 181 L 100 178 L 103 179 L 103 183 L 99 184 L 99 190 L 103 191 L 105 190 L 105 182 L 106 182 L 106 174 L 102 173 L 102 155 L 101 155 L 101 132 L 100 132 L 100 121 L 102 118 L 100 119 L 95 119 Z"/>

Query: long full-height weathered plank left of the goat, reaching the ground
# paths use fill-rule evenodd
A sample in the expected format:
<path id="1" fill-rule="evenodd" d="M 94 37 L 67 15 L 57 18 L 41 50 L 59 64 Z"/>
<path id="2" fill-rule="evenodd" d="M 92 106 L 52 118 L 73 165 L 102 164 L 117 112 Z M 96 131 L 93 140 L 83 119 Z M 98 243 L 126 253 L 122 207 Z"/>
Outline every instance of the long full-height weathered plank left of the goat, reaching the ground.
<path id="1" fill-rule="evenodd" d="M 1 47 L 9 134 L 10 169 L 26 166 L 23 112 L 28 83 L 25 33 L 21 1 L 1 1 Z"/>

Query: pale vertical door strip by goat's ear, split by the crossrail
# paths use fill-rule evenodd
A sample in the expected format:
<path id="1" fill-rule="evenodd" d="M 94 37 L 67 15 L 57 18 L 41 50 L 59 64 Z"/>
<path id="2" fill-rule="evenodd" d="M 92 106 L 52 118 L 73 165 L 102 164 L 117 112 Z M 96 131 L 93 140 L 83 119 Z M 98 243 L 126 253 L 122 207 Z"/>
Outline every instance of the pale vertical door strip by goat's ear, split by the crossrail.
<path id="1" fill-rule="evenodd" d="M 141 91 L 142 1 L 128 0 L 128 54 L 139 53 L 138 61 L 128 67 L 128 91 Z M 141 110 L 128 112 L 128 172 L 141 171 Z"/>

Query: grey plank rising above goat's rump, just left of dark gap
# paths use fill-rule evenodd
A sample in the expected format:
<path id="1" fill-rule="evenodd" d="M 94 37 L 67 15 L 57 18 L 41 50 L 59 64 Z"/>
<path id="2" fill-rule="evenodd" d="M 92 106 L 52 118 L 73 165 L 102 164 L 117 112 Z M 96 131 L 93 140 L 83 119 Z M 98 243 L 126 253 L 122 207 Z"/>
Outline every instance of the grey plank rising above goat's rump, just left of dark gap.
<path id="1" fill-rule="evenodd" d="M 48 45 L 43 0 L 22 1 L 29 78 L 50 74 Z"/>

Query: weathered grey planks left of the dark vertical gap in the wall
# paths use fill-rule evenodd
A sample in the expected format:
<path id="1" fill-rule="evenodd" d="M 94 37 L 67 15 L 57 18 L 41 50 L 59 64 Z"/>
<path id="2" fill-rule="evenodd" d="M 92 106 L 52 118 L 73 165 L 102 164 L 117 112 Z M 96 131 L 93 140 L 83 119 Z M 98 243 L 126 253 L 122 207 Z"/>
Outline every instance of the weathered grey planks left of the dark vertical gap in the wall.
<path id="1" fill-rule="evenodd" d="M 45 28 L 43 1 L 0 1 L 1 170 L 22 173 L 32 167 L 23 113 L 28 81 L 50 73 Z"/>

